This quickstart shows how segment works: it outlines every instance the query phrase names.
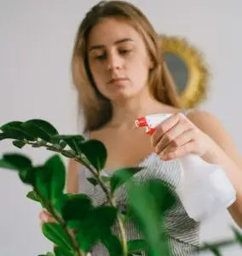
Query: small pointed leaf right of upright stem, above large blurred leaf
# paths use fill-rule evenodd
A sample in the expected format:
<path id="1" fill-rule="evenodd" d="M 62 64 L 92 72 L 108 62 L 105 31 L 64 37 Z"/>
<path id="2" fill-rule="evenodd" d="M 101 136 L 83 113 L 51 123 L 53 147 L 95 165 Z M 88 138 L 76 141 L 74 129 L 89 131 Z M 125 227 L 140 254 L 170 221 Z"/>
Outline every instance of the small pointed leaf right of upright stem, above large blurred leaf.
<path id="1" fill-rule="evenodd" d="M 112 193 L 118 189 L 121 185 L 125 182 L 129 181 L 131 177 L 137 172 L 140 172 L 143 168 L 142 167 L 129 167 L 129 168 L 122 168 L 118 169 L 112 174 L 110 180 L 110 187 Z"/>

